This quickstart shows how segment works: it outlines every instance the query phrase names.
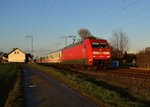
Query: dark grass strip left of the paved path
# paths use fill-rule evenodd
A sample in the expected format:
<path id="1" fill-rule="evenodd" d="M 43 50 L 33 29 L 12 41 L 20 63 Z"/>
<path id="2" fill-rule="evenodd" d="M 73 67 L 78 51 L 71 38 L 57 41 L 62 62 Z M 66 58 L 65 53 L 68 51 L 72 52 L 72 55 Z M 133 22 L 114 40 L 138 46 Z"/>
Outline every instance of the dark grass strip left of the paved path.
<path id="1" fill-rule="evenodd" d="M 23 107 L 21 75 L 17 64 L 0 64 L 0 107 Z"/>

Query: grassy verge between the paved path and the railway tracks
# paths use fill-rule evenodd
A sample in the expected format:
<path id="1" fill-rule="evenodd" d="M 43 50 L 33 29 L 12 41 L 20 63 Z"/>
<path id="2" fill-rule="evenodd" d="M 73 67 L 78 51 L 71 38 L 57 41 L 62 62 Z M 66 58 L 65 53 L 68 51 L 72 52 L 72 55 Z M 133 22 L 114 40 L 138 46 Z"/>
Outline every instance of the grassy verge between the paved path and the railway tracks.
<path id="1" fill-rule="evenodd" d="M 136 83 L 128 80 L 126 83 L 124 78 L 107 77 L 93 78 L 81 74 L 75 74 L 67 71 L 58 72 L 51 67 L 32 64 L 52 76 L 53 78 L 65 83 L 74 90 L 80 92 L 89 99 L 92 99 L 99 106 L 106 107 L 149 107 L 150 92 L 142 91 L 140 94 L 136 92 Z M 103 77 L 105 77 L 103 75 Z M 133 82 L 132 82 L 133 81 Z M 150 82 L 149 82 L 150 83 Z M 132 86 L 133 84 L 133 86 Z M 148 98 L 145 98 L 148 97 Z"/>

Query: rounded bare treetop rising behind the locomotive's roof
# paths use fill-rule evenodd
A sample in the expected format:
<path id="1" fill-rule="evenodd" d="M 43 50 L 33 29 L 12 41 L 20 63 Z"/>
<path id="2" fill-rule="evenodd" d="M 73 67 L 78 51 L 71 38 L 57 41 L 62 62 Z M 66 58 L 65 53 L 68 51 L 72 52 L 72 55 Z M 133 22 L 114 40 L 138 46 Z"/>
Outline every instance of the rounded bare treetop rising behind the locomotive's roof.
<path id="1" fill-rule="evenodd" d="M 91 32 L 88 29 L 80 29 L 78 31 L 79 36 L 81 37 L 82 40 L 85 40 L 87 37 L 93 37 Z"/>

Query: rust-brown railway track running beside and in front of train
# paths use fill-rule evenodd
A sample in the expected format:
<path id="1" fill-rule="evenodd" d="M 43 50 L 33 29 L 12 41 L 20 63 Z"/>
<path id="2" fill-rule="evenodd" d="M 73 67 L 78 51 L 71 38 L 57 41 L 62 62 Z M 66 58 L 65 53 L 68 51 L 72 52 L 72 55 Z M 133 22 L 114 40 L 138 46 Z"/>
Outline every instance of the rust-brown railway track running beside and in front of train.
<path id="1" fill-rule="evenodd" d="M 43 65 L 43 64 L 42 64 Z M 48 65 L 46 65 L 48 66 Z M 77 68 L 66 68 L 66 67 L 57 67 L 54 68 L 59 70 L 67 70 L 70 72 L 80 73 L 92 77 L 102 77 L 106 75 L 112 76 L 120 76 L 120 77 L 128 77 L 128 78 L 141 78 L 141 79 L 150 79 L 150 70 L 135 70 L 135 69 L 116 69 L 116 70 L 99 70 L 99 71 L 89 71 L 89 70 L 81 70 Z"/>

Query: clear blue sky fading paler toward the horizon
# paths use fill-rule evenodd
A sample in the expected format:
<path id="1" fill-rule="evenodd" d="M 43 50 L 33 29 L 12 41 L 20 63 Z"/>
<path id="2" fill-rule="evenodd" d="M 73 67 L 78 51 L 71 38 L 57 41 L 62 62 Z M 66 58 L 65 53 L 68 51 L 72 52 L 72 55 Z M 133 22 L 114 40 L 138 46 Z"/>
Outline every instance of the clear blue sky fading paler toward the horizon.
<path id="1" fill-rule="evenodd" d="M 81 28 L 108 41 L 121 29 L 136 53 L 150 47 L 150 0 L 0 0 L 0 51 L 31 52 L 33 37 L 34 55 L 44 55 L 63 48 L 65 36 L 78 39 Z"/>

